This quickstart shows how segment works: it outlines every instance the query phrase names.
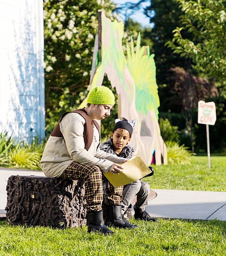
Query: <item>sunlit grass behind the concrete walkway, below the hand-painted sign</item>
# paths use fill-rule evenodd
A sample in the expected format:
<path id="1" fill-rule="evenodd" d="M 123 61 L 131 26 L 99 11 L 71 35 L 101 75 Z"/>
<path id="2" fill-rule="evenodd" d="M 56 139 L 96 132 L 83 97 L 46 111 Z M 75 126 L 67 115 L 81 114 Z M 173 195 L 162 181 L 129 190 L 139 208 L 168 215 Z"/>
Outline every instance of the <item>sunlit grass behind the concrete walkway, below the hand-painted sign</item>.
<path id="1" fill-rule="evenodd" d="M 150 188 L 226 192 L 226 156 L 191 156 L 191 164 L 153 165 Z"/>

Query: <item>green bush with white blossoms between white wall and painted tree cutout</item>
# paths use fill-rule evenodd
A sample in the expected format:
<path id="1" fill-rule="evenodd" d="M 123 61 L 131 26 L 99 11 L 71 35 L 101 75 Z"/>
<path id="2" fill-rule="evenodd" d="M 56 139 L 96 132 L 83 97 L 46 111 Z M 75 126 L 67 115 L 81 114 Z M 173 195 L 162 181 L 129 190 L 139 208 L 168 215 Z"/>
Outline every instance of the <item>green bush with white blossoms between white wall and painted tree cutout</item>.
<path id="1" fill-rule="evenodd" d="M 44 0 L 44 59 L 47 130 L 77 108 L 90 80 L 98 10 L 112 19 L 109 0 Z M 48 132 L 47 132 L 48 133 Z"/>

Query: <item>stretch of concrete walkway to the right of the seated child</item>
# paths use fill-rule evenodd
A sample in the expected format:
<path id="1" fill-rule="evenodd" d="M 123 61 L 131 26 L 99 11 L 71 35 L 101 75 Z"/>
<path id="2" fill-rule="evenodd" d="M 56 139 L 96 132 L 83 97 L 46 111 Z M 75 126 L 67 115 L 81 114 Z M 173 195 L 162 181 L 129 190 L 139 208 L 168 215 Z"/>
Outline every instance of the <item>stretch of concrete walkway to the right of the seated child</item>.
<path id="1" fill-rule="evenodd" d="M 226 220 L 226 192 L 153 190 L 157 196 L 147 206 L 153 217 Z"/>

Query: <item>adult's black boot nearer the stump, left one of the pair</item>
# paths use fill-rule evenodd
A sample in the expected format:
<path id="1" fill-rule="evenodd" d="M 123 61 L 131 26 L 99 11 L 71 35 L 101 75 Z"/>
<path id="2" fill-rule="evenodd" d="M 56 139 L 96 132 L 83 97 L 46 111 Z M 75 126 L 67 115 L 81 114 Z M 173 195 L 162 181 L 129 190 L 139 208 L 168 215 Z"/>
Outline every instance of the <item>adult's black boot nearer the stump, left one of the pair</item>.
<path id="1" fill-rule="evenodd" d="M 114 233 L 109 228 L 107 228 L 103 223 L 103 212 L 87 212 L 87 222 L 88 230 L 90 233 L 92 231 L 98 231 L 100 235 L 108 235 Z"/>

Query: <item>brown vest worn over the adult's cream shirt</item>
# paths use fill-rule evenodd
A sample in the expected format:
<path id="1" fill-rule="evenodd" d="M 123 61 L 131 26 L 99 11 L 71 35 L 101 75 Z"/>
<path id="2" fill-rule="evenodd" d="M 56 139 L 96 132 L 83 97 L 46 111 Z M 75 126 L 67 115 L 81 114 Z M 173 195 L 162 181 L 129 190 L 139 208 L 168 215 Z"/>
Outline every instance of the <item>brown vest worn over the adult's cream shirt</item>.
<path id="1" fill-rule="evenodd" d="M 84 108 L 80 108 L 78 110 L 73 110 L 73 111 L 69 111 L 69 112 L 65 112 L 64 114 L 62 114 L 62 116 L 60 117 L 60 120 L 58 121 L 56 127 L 53 129 L 53 132 L 51 132 L 51 136 L 53 137 L 59 137 L 59 138 L 64 138 L 62 132 L 60 131 L 60 121 L 62 120 L 62 118 L 70 113 L 70 112 L 74 112 L 74 113 L 78 113 L 81 116 L 84 117 L 85 119 L 85 124 L 84 124 L 84 132 L 83 132 L 83 138 L 84 138 L 84 143 L 85 143 L 85 149 L 88 151 L 88 149 L 90 148 L 92 141 L 93 141 L 93 137 L 94 137 L 94 129 L 92 126 L 92 122 L 90 120 L 90 118 L 87 115 L 87 112 L 85 111 Z M 97 127 L 97 130 L 99 132 L 99 140 L 101 140 L 101 136 L 100 136 L 100 126 L 97 123 L 97 121 L 94 120 L 94 124 Z M 99 143 L 100 144 L 100 143 Z M 99 147 L 99 145 L 97 146 L 97 148 Z"/>

